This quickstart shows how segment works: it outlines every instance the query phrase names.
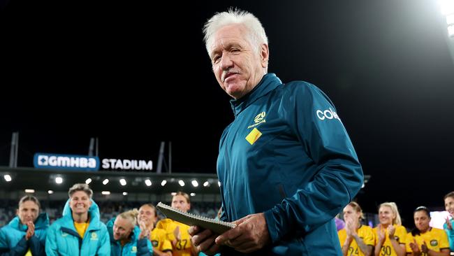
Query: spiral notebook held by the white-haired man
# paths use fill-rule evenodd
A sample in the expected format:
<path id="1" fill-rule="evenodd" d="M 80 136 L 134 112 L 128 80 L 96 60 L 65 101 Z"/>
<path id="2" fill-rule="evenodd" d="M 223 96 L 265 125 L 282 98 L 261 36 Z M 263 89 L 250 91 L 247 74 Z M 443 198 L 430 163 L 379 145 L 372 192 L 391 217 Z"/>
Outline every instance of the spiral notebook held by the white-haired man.
<path id="1" fill-rule="evenodd" d="M 176 220 L 177 222 L 182 222 L 189 226 L 199 226 L 203 227 L 204 229 L 210 229 L 212 232 L 217 234 L 222 234 L 236 227 L 235 224 L 230 222 L 206 218 L 192 213 L 183 213 L 182 211 L 161 202 L 159 202 L 156 207 L 159 209 L 159 211 L 161 211 L 161 213 L 166 215 L 167 218 Z"/>

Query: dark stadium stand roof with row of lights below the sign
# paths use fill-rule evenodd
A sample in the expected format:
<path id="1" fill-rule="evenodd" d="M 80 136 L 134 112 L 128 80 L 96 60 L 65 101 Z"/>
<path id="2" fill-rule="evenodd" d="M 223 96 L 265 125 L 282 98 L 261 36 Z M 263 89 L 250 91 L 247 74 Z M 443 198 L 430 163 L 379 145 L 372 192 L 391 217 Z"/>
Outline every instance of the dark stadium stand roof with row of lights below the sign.
<path id="1" fill-rule="evenodd" d="M 187 193 L 219 194 L 216 174 L 209 173 L 151 173 L 131 171 L 66 171 L 59 169 L 34 169 L 29 167 L 10 168 L 0 166 L 1 190 L 52 190 L 68 192 L 75 183 L 86 183 L 94 191 L 166 193 L 182 190 Z M 5 176 L 9 176 L 5 177 Z M 61 178 L 61 183 L 56 179 Z M 108 183 L 103 181 L 108 179 Z M 126 181 L 125 185 L 120 180 Z M 10 180 L 10 181 L 7 181 Z M 146 182 L 146 180 L 149 180 Z M 163 184 L 163 180 L 166 180 Z M 182 186 L 181 181 L 184 182 Z M 197 183 L 193 183 L 196 180 Z M 151 182 L 151 185 L 149 185 Z M 148 185 L 146 184 L 148 183 Z M 161 185 L 163 184 L 163 185 Z M 197 185 L 197 186 L 195 186 Z"/>

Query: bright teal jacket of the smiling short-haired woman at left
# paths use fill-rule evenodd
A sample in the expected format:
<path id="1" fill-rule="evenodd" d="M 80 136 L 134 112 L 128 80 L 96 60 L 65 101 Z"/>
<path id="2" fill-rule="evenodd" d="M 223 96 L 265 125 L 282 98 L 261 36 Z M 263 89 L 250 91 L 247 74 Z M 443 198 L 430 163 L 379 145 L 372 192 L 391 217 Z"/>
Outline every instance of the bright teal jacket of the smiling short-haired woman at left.
<path id="1" fill-rule="evenodd" d="M 47 256 L 110 256 L 110 241 L 107 228 L 99 220 L 98 205 L 91 200 L 89 208 L 90 224 L 82 239 L 74 227 L 71 208 L 66 201 L 63 217 L 55 220 L 49 229 L 45 241 Z"/>

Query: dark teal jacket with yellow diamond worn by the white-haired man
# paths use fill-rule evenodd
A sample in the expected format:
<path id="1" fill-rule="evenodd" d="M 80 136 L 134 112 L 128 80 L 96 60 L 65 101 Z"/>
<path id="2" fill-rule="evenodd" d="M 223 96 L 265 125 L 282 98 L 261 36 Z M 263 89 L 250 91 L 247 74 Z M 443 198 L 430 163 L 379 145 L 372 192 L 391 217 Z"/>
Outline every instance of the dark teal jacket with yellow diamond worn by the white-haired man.
<path id="1" fill-rule="evenodd" d="M 330 99 L 268 73 L 230 104 L 235 120 L 217 159 L 221 220 L 265 213 L 272 245 L 253 255 L 342 255 L 333 218 L 360 190 L 363 170 Z"/>

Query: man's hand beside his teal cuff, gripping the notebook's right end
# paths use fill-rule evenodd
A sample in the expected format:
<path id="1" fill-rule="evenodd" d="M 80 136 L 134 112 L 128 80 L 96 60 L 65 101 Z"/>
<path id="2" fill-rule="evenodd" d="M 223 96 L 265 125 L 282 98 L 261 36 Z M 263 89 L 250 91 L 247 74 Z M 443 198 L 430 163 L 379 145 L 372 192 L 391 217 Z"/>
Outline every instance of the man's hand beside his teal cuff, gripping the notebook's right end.
<path id="1" fill-rule="evenodd" d="M 237 227 L 217 237 L 218 245 L 230 246 L 240 253 L 251 253 L 271 242 L 265 214 L 247 215 L 233 222 Z"/>

